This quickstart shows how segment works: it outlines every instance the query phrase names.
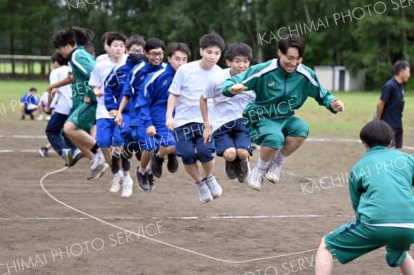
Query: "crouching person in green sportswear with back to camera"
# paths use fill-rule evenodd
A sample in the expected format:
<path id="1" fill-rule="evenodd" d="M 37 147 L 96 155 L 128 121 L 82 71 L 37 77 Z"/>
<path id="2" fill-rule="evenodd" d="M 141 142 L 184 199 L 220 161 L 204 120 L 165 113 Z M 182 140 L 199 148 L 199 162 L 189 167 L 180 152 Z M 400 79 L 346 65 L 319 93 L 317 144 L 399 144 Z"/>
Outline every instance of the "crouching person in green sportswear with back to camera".
<path id="1" fill-rule="evenodd" d="M 414 261 L 407 251 L 414 243 L 414 158 L 388 149 L 394 135 L 385 121 L 369 122 L 359 136 L 367 153 L 349 176 L 356 220 L 322 238 L 316 274 L 332 274 L 332 255 L 348 263 L 385 246 L 388 265 L 412 275 Z"/>

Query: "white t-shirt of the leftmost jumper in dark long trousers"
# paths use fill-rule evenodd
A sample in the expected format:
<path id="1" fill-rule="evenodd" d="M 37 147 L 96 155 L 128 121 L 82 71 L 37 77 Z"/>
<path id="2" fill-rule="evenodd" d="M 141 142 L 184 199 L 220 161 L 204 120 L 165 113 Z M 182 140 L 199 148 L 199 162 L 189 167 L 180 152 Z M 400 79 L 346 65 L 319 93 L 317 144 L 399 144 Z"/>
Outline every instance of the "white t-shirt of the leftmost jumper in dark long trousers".
<path id="1" fill-rule="evenodd" d="M 69 68 L 66 65 L 52 70 L 49 76 L 50 84 L 66 79 L 68 77 L 68 70 Z M 52 101 L 52 104 L 55 103 L 55 112 L 58 112 L 59 114 L 69 114 L 70 109 L 72 108 L 72 85 L 68 84 L 61 86 L 57 88 L 57 91 L 58 92 L 55 94 Z M 50 107 L 52 107 L 52 104 L 50 104 Z"/>

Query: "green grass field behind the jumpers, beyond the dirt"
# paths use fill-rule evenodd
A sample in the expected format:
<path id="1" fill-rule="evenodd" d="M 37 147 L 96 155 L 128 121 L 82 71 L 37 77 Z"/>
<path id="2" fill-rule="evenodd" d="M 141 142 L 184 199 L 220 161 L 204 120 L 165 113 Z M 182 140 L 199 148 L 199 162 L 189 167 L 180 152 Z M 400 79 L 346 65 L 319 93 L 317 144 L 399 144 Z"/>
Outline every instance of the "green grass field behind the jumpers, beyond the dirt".
<path id="1" fill-rule="evenodd" d="M 30 87 L 37 88 L 41 95 L 48 87 L 46 81 L 0 81 L 0 111 L 12 114 L 16 101 Z M 328 135 L 356 137 L 362 125 L 372 119 L 375 106 L 380 97 L 378 92 L 334 92 L 338 99 L 345 103 L 345 112 L 331 114 L 324 107 L 317 105 L 313 99 L 308 99 L 305 105 L 297 111 L 297 116 L 304 119 L 311 131 L 322 131 Z M 414 92 L 405 93 L 404 130 L 414 132 Z M 14 107 L 14 112 L 16 111 Z"/>

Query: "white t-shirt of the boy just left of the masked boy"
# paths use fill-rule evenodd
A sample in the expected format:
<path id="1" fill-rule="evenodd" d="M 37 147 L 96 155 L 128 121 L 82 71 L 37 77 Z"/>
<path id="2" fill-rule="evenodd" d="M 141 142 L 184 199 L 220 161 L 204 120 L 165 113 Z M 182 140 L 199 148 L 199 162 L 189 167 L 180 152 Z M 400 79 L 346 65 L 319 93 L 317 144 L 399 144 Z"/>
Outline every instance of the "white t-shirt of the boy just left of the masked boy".
<path id="1" fill-rule="evenodd" d="M 122 57 L 122 61 L 126 60 L 126 55 Z M 121 61 L 121 62 L 122 62 Z M 119 63 L 121 63 L 119 62 Z M 101 61 L 99 64 L 95 64 L 95 68 L 90 73 L 89 85 L 92 87 L 97 86 L 98 88 L 103 88 L 105 84 L 106 77 L 108 74 L 119 63 L 112 62 L 110 59 L 106 59 Z M 115 119 L 114 117 L 109 115 L 108 110 L 105 107 L 105 101 L 103 100 L 103 96 L 97 96 L 97 113 L 96 119 Z"/>

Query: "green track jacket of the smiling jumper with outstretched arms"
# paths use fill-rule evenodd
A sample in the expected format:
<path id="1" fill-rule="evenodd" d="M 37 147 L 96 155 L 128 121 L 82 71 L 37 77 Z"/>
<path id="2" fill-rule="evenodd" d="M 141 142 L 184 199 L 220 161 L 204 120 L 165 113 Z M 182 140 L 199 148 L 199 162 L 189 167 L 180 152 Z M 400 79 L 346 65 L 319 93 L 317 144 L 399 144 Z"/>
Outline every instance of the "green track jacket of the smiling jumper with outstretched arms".
<path id="1" fill-rule="evenodd" d="M 291 74 L 280 68 L 279 59 L 253 65 L 245 72 L 227 79 L 221 92 L 225 96 L 234 96 L 230 94 L 230 88 L 236 83 L 242 83 L 247 90 L 256 92 L 255 101 L 250 101 L 243 112 L 247 126 L 261 118 L 282 119 L 293 116 L 294 110 L 299 109 L 308 96 L 336 113 L 331 109 L 335 96 L 322 87 L 313 70 L 302 64 Z"/>

